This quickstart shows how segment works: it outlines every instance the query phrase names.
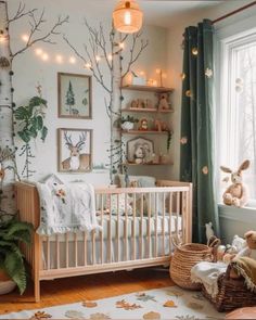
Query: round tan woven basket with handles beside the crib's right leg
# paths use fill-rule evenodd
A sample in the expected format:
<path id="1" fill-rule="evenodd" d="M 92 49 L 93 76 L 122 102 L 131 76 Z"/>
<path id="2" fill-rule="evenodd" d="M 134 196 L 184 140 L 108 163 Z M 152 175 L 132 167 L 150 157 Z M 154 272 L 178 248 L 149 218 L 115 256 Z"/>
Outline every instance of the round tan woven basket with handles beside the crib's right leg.
<path id="1" fill-rule="evenodd" d="M 213 261 L 215 259 L 213 251 L 214 247 L 219 244 L 219 240 L 205 244 L 188 243 L 179 244 L 175 243 L 176 251 L 170 263 L 170 278 L 174 282 L 189 290 L 201 290 L 202 284 L 193 283 L 190 279 L 191 268 L 200 261 Z"/>

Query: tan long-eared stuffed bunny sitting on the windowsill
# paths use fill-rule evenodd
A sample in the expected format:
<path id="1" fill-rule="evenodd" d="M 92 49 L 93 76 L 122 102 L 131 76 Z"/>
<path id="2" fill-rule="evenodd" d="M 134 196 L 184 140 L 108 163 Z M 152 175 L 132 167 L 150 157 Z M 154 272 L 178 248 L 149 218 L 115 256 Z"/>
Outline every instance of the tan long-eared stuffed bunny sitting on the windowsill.
<path id="1" fill-rule="evenodd" d="M 242 183 L 242 171 L 249 166 L 249 161 L 244 161 L 239 167 L 238 171 L 232 171 L 230 168 L 221 166 L 223 172 L 231 174 L 232 184 L 223 193 L 223 203 L 226 205 L 234 205 L 235 207 L 243 207 L 248 202 L 247 187 Z"/>

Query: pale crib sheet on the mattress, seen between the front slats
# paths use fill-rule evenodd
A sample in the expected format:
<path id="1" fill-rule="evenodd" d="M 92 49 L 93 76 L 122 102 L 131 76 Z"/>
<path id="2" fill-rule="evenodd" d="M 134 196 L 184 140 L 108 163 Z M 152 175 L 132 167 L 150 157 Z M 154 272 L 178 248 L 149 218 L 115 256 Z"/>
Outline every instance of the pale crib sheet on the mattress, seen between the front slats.
<path id="1" fill-rule="evenodd" d="M 136 240 L 133 242 L 132 236 L 132 217 L 128 217 L 128 240 L 125 242 L 124 238 L 124 227 L 125 227 L 125 217 L 119 218 L 119 240 L 117 236 L 117 217 L 113 216 L 112 221 L 112 240 L 111 240 L 111 261 L 125 261 L 126 259 L 131 260 L 133 258 L 133 247 L 136 247 L 136 259 L 139 258 L 149 258 L 154 257 L 155 253 L 157 256 L 168 255 L 170 254 L 170 236 L 169 236 L 169 216 L 165 216 L 164 219 L 164 228 L 165 228 L 165 236 L 163 239 L 163 217 L 157 217 L 157 242 L 155 242 L 155 217 L 151 217 L 151 241 L 149 241 L 148 235 L 148 217 L 136 217 Z M 95 234 L 94 242 L 94 264 L 106 264 L 110 263 L 110 240 L 107 239 L 106 228 L 110 221 L 110 217 L 105 216 L 103 218 L 103 261 L 101 261 L 101 235 Z M 142 221 L 142 236 L 140 236 L 140 223 Z M 171 216 L 171 233 L 175 234 L 176 230 L 179 232 L 182 228 L 182 218 L 181 216 L 177 217 Z M 77 266 L 85 266 L 85 247 L 84 247 L 84 232 L 78 232 L 76 234 L 77 238 Z M 59 234 L 59 256 L 60 256 L 60 268 L 66 268 L 66 238 L 65 234 Z M 87 238 L 87 265 L 92 264 L 92 241 L 91 236 Z M 52 235 L 49 238 L 50 243 L 47 244 L 47 241 L 42 241 L 42 255 L 43 255 L 43 269 L 47 269 L 47 266 L 50 266 L 50 269 L 56 268 L 56 236 Z M 117 257 L 117 243 L 119 243 L 119 257 Z M 151 244 L 150 244 L 151 243 Z M 141 244 L 142 244 L 142 253 L 141 253 Z M 164 248 L 163 248 L 164 244 Z M 127 247 L 127 256 L 125 256 L 125 247 Z M 50 255 L 48 255 L 48 248 L 50 248 Z M 156 249 L 155 249 L 156 248 Z M 47 257 L 50 257 L 50 263 L 48 264 Z M 74 234 L 68 234 L 68 267 L 75 267 L 75 241 Z"/>

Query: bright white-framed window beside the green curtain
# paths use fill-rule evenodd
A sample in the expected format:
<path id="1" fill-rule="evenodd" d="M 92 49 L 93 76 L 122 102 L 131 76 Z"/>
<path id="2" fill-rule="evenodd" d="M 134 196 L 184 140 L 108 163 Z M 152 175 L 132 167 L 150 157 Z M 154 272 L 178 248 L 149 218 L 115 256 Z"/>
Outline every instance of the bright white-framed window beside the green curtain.
<path id="1" fill-rule="evenodd" d="M 219 162 L 235 169 L 251 161 L 243 176 L 256 200 L 256 29 L 222 40 L 221 47 Z"/>

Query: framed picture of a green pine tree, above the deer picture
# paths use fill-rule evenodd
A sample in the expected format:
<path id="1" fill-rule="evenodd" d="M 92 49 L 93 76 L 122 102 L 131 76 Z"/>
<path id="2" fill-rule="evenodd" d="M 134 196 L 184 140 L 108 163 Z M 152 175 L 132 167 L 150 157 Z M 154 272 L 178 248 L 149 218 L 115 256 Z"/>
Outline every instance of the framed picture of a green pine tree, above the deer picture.
<path id="1" fill-rule="evenodd" d="M 60 118 L 91 119 L 91 76 L 57 73 Z"/>

